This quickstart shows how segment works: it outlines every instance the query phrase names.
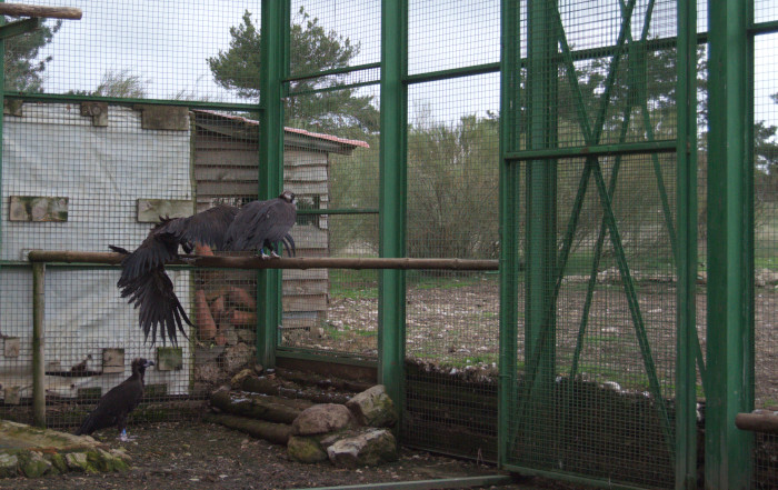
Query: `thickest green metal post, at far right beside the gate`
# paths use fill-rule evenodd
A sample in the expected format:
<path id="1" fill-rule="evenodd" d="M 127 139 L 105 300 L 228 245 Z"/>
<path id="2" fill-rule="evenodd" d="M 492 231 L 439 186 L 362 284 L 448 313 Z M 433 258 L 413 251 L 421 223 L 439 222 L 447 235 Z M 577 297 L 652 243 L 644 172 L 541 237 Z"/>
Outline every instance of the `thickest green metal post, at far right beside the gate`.
<path id="1" fill-rule="evenodd" d="M 748 0 L 708 0 L 708 342 L 705 488 L 747 489 L 754 433 L 735 427 L 751 410 L 754 203 Z"/>

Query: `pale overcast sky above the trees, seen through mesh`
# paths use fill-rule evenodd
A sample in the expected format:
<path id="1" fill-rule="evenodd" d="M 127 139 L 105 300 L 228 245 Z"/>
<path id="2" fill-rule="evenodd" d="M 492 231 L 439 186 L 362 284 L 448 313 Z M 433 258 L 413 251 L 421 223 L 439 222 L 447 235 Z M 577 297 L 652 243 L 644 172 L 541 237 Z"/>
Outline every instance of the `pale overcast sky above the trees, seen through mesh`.
<path id="1" fill-rule="evenodd" d="M 61 0 L 26 0 L 59 6 Z M 93 90 L 107 71 L 128 71 L 147 82 L 150 98 L 187 98 L 220 102 L 245 102 L 218 87 L 207 59 L 229 49 L 230 27 L 238 26 L 246 10 L 259 26 L 259 1 L 142 0 L 132 2 L 71 0 L 68 6 L 83 10 L 83 19 L 63 21 L 54 41 L 41 56 L 52 61 L 44 72 L 47 92 Z M 639 37 L 645 11 L 638 1 L 632 36 Z M 764 3 L 758 0 L 758 7 Z M 360 43 L 353 64 L 380 60 L 380 1 L 293 1 L 292 14 L 306 6 L 327 30 Z M 619 19 L 616 0 L 590 0 L 572 11 L 562 2 L 568 42 L 577 49 L 614 43 Z M 664 7 L 667 6 L 667 7 Z M 651 36 L 672 33 L 672 2 L 658 2 L 652 14 Z M 420 73 L 499 61 L 499 0 L 411 1 L 409 11 L 409 72 Z M 757 20 L 776 16 L 757 8 Z M 705 12 L 700 28 L 705 28 Z M 756 116 L 778 124 L 778 106 L 769 94 L 778 92 L 778 34 L 757 39 Z M 293 72 L 292 67 L 292 72 Z M 366 88 L 377 94 L 378 88 Z M 460 116 L 497 111 L 499 77 L 480 76 L 413 86 L 409 90 L 410 119 L 456 121 Z"/>

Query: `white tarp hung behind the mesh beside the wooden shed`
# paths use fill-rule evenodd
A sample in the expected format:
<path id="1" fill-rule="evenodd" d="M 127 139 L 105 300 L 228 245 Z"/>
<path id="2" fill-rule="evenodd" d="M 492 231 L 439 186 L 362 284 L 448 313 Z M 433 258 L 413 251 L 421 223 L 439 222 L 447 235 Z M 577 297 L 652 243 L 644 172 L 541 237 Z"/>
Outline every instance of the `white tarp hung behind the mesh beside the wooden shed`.
<path id="1" fill-rule="evenodd" d="M 23 261 L 41 250 L 108 251 L 108 244 L 133 250 L 149 223 L 137 221 L 138 199 L 192 199 L 189 131 L 141 129 L 141 113 L 110 107 L 107 128 L 80 116 L 79 104 L 26 103 L 23 117 L 7 116 L 2 148 L 2 222 L 0 258 Z M 10 196 L 67 197 L 67 222 L 9 221 Z M 189 273 L 170 273 L 189 312 Z M 99 371 L 102 350 L 124 349 L 123 373 L 73 379 L 77 388 L 100 386 L 103 392 L 129 376 L 134 357 L 156 359 L 143 344 L 137 311 L 120 297 L 118 270 L 51 267 L 46 280 L 47 364 L 62 369 L 92 357 Z M 0 333 L 20 338 L 19 357 L 0 351 L 0 383 L 19 386 L 22 397 L 31 364 L 32 278 L 29 268 L 0 269 Z M 150 370 L 147 383 L 167 383 L 169 394 L 189 390 L 190 358 L 186 339 L 184 369 Z M 57 377 L 50 377 L 57 378 Z M 57 383 L 52 380 L 52 390 Z M 11 384 L 9 384 L 11 383 Z M 62 389 L 57 389 L 62 391 Z M 0 391 L 0 397 L 2 391 Z"/>

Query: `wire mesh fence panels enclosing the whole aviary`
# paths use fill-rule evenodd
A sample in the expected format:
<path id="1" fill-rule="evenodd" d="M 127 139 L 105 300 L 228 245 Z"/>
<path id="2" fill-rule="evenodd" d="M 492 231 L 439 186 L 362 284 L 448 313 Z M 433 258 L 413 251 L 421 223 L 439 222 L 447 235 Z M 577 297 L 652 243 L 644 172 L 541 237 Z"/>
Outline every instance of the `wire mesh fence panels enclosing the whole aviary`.
<path id="1" fill-rule="evenodd" d="M 509 163 L 521 177 L 511 210 L 519 213 L 520 266 L 511 271 L 519 283 L 517 372 L 502 373 L 517 376 L 502 428 L 507 462 L 670 487 L 676 157 L 670 147 L 567 159 L 543 152 L 678 138 L 677 2 L 519 2 L 510 142 L 500 141 L 500 2 L 466 3 L 408 2 L 407 257 L 499 258 L 500 143 L 509 153 L 535 152 L 537 160 Z M 29 250 L 133 250 L 161 216 L 241 206 L 267 183 L 259 164 L 257 2 L 157 2 L 142 12 L 86 0 L 72 7 L 84 10 L 81 21 L 48 20 L 6 41 L 0 416 L 23 421 L 32 418 Z M 282 173 L 283 188 L 298 198 L 297 257 L 380 254 L 381 8 L 350 0 L 290 4 Z M 771 60 L 778 37 L 771 2 L 755 0 L 754 14 L 765 23 L 755 34 L 755 404 L 776 410 Z M 707 23 L 698 2 L 698 30 Z M 702 358 L 707 56 L 700 40 Z M 119 268 L 48 267 L 50 426 L 78 423 L 127 378 L 136 357 L 157 362 L 137 420 L 190 417 L 215 386 L 255 366 L 263 308 L 257 272 L 172 267 L 168 273 L 194 327 L 178 346 L 150 346 L 137 311 L 119 297 Z M 378 278 L 375 270 L 285 270 L 279 352 L 375 361 Z M 497 460 L 498 274 L 408 271 L 405 280 L 403 441 Z M 704 403 L 701 378 L 695 389 Z M 775 482 L 775 437 L 757 437 L 760 488 Z"/>

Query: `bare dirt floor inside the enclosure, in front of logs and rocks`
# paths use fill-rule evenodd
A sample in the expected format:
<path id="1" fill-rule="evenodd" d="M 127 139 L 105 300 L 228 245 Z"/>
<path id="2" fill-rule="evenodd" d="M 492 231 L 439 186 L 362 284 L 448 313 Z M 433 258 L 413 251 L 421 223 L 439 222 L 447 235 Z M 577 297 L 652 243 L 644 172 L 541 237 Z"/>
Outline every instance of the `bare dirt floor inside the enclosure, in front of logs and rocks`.
<path id="1" fill-rule="evenodd" d="M 126 448 L 132 457 L 127 472 L 49 476 L 38 479 L 0 479 L 0 488 L 14 490 L 143 490 L 225 489 L 259 490 L 389 483 L 440 478 L 497 474 L 490 466 L 401 450 L 400 460 L 378 468 L 338 469 L 329 462 L 290 461 L 286 448 L 253 439 L 221 426 L 174 422 L 131 426 L 131 442 L 120 442 L 107 429 L 98 439 Z M 523 481 L 499 487 L 507 490 L 573 489 L 550 481 Z"/>

